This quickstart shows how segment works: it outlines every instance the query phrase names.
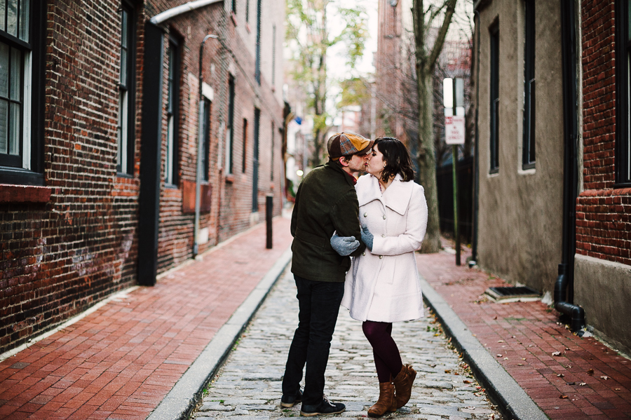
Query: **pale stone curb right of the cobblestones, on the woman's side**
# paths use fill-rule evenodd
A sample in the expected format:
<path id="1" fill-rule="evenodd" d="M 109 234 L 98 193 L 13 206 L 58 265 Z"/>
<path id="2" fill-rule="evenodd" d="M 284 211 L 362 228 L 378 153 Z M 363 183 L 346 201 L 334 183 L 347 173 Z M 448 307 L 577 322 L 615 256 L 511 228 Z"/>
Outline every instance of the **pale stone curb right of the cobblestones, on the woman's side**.
<path id="1" fill-rule="evenodd" d="M 419 274 L 420 276 L 420 274 Z M 445 333 L 463 354 L 473 374 L 486 388 L 491 401 L 509 420 L 548 420 L 549 417 L 534 403 L 526 391 L 489 354 L 468 330 L 449 304 L 421 277 L 423 300 L 438 316 Z"/>

